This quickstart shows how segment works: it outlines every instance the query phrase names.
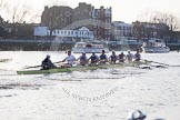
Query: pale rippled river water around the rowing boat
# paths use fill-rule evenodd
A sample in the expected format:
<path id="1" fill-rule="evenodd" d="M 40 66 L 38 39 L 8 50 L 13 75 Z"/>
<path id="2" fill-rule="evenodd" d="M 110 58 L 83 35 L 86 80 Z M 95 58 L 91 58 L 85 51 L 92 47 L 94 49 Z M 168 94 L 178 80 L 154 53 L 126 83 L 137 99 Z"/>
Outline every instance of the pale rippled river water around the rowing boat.
<path id="1" fill-rule="evenodd" d="M 66 57 L 64 52 L 0 52 L 0 59 L 11 59 L 0 62 L 0 120 L 127 120 L 137 109 L 146 120 L 180 120 L 180 67 L 16 73 L 40 64 L 47 54 L 53 62 Z M 142 58 L 180 64 L 178 52 L 142 53 Z"/>

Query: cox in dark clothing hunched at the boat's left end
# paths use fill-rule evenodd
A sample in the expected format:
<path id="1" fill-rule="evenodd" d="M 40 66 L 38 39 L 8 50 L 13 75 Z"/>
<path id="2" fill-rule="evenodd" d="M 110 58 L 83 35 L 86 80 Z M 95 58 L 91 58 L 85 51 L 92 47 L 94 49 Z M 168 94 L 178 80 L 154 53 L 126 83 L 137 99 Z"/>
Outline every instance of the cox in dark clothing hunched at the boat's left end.
<path id="1" fill-rule="evenodd" d="M 50 60 L 50 56 L 48 54 L 47 58 L 42 61 L 41 63 L 41 70 L 49 70 L 49 69 L 53 69 L 57 68 L 52 61 Z"/>

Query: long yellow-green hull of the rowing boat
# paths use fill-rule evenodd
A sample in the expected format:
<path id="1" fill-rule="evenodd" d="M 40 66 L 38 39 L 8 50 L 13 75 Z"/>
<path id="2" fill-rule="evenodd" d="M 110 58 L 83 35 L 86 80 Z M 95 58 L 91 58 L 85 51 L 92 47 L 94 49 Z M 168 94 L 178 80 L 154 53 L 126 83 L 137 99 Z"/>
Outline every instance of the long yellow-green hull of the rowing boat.
<path id="1" fill-rule="evenodd" d="M 46 73 L 58 73 L 58 72 L 72 72 L 72 71 L 87 71 L 97 69 L 109 69 L 109 68 L 123 68 L 123 67 L 138 67 L 140 64 L 148 64 L 148 61 L 131 62 L 131 63 L 116 63 L 116 64 L 96 64 L 96 66 L 77 66 L 71 68 L 56 68 L 49 70 L 24 70 L 17 71 L 18 74 L 46 74 Z"/>

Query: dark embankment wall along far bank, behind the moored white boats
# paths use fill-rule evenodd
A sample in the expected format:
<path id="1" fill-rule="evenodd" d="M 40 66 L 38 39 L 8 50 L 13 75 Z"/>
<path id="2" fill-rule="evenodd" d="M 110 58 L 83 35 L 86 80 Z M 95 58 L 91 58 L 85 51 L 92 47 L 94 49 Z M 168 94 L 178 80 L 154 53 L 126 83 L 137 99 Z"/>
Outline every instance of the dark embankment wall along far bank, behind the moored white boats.
<path id="1" fill-rule="evenodd" d="M 40 40 L 40 39 L 0 39 L 0 51 L 62 51 L 74 46 L 74 41 Z M 104 41 L 106 43 L 106 41 Z M 108 43 L 110 50 L 136 50 L 139 43 Z M 170 50 L 180 50 L 180 43 L 168 43 Z"/>

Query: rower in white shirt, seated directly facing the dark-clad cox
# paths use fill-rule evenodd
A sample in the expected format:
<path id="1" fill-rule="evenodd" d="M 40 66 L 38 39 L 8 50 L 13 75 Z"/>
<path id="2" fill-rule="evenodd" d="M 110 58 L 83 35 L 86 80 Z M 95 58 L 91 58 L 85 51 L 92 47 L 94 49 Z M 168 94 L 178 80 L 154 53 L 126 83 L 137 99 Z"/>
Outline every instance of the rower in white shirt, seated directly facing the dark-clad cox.
<path id="1" fill-rule="evenodd" d="M 67 61 L 67 63 L 63 63 L 61 67 L 70 68 L 72 67 L 73 62 L 76 61 L 76 58 L 71 54 L 71 51 L 68 51 L 68 57 L 64 58 L 61 62 Z"/>

